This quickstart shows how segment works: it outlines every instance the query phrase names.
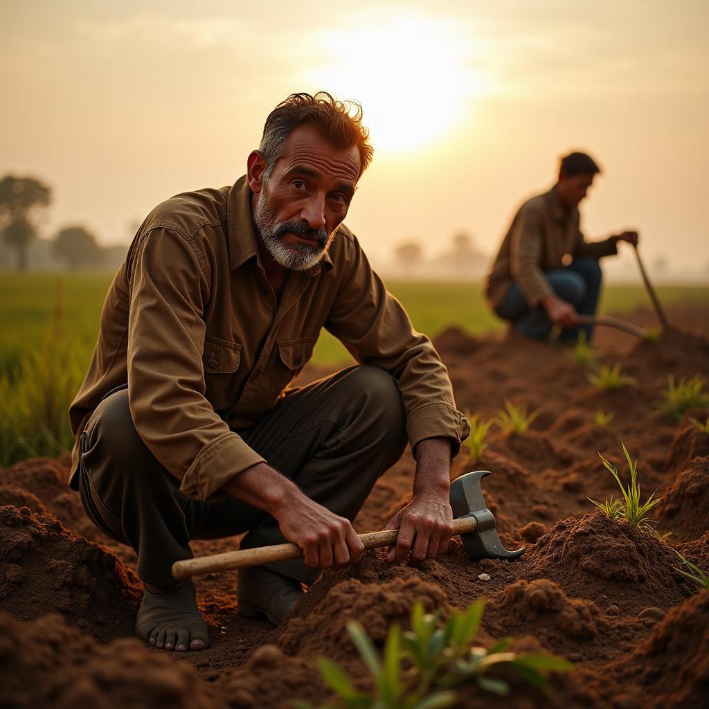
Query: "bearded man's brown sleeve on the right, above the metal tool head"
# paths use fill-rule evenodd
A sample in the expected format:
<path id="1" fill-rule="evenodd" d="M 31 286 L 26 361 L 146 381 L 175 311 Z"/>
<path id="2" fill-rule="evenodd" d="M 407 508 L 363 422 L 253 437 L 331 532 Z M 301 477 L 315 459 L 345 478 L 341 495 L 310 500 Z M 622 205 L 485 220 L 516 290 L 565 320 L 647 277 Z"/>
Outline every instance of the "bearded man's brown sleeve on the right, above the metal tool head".
<path id="1" fill-rule="evenodd" d="M 325 328 L 357 362 L 386 369 L 396 379 L 412 450 L 426 438 L 447 437 L 456 455 L 470 428 L 455 406 L 445 365 L 428 337 L 415 332 L 403 306 L 369 266 L 357 240 L 351 238 L 348 243 L 349 272 L 342 279 Z"/>

